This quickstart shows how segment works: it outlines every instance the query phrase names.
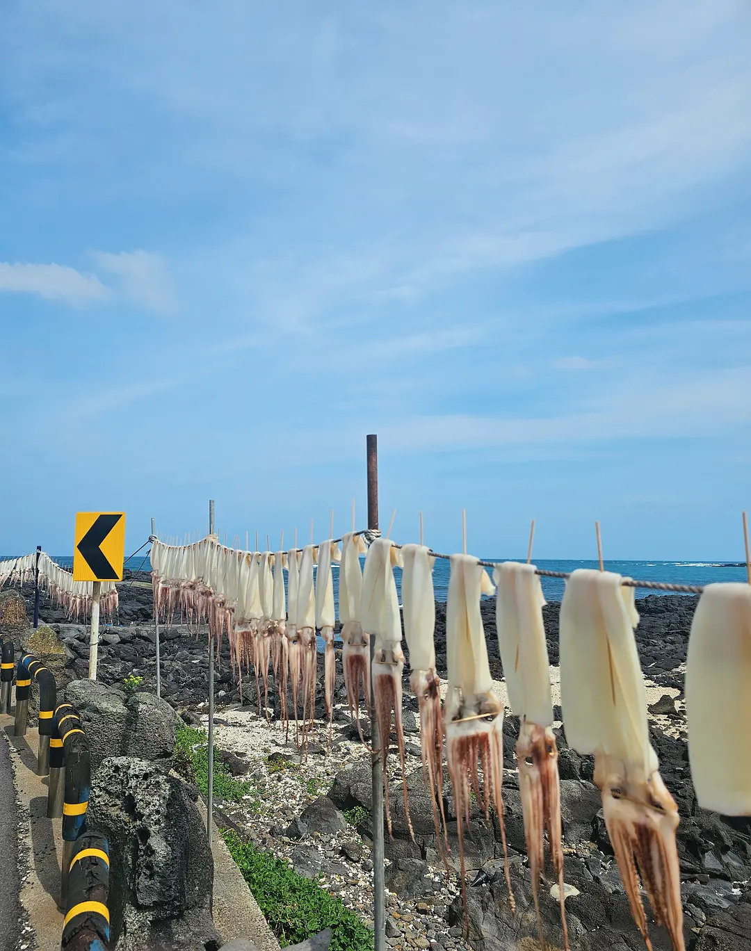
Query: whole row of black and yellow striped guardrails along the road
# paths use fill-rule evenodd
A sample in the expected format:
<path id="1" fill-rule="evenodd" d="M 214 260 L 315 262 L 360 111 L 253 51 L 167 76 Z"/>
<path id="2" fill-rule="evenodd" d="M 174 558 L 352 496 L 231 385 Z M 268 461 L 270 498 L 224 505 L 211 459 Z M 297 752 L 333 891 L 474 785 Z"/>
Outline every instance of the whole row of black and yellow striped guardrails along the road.
<path id="1" fill-rule="evenodd" d="M 49 772 L 47 815 L 62 818 L 63 861 L 60 908 L 65 913 L 62 946 L 66 951 L 106 951 L 109 941 L 109 848 L 107 840 L 86 831 L 91 764 L 89 743 L 77 710 L 57 703 L 54 674 L 33 654 L 16 662 L 10 641 L 0 639 L 0 713 L 11 711 L 15 670 L 14 733 L 26 735 L 31 681 L 39 688 L 37 774 Z"/>

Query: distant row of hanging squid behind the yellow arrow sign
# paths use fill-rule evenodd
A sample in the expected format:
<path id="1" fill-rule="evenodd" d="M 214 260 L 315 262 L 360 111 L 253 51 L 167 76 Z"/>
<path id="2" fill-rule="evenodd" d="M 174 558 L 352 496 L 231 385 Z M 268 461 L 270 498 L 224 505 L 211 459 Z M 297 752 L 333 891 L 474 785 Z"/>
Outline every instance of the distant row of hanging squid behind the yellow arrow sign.
<path id="1" fill-rule="evenodd" d="M 32 584 L 36 557 L 37 553 L 34 552 L 0 561 L 0 588 L 6 583 L 18 586 Z M 117 589 L 113 581 L 102 581 L 101 585 L 99 610 L 106 619 L 111 620 L 118 606 Z M 39 553 L 39 587 L 48 592 L 52 603 L 62 608 L 70 620 L 85 621 L 89 617 L 93 582 L 73 581 L 72 574 L 44 552 Z"/>

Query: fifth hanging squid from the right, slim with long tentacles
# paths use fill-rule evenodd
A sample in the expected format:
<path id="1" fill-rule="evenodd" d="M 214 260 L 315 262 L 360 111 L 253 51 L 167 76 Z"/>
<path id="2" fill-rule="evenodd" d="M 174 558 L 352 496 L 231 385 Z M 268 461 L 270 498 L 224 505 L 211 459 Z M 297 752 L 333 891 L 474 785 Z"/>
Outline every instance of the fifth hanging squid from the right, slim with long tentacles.
<path id="1" fill-rule="evenodd" d="M 440 846 L 443 825 L 444 846 L 447 849 L 443 793 L 444 727 L 441 718 L 441 678 L 435 670 L 436 610 L 435 592 L 433 592 L 435 558 L 425 545 L 405 545 L 402 548 L 402 560 L 404 562 L 402 603 L 406 645 L 409 648 L 409 686 L 417 697 L 420 707 L 423 777 L 425 786 L 430 790 L 436 839 Z M 439 811 L 441 823 L 438 819 Z"/>

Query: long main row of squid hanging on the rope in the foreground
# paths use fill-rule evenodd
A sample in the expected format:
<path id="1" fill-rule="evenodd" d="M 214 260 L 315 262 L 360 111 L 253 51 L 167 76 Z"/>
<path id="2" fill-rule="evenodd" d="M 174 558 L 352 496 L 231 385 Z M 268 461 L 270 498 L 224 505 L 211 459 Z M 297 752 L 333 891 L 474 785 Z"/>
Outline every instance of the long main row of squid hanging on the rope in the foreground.
<path id="1" fill-rule="evenodd" d="M 361 569 L 360 555 L 366 552 Z M 325 643 L 324 695 L 330 724 L 333 710 L 336 623 L 331 563 L 340 561 L 339 620 L 350 712 L 363 737 L 360 707 L 374 716 L 386 764 L 392 731 L 401 761 L 405 812 L 402 683 L 409 650 L 409 684 L 420 709 L 425 785 L 435 830 L 444 852 L 446 831 L 443 760 L 456 804 L 457 841 L 464 893 L 464 829 L 471 796 L 492 805 L 504 837 L 504 708 L 492 692 L 483 619 L 483 595 L 497 592 L 496 623 L 509 705 L 520 719 L 516 744 L 524 836 L 530 864 L 539 939 L 544 840 L 559 885 L 563 945 L 569 947 L 563 907 L 563 848 L 558 750 L 553 732 L 544 604 L 534 565 L 503 562 L 490 576 L 468 554 L 450 557 L 446 604 L 448 682 L 435 663 L 435 557 L 424 545 L 402 547 L 375 538 L 366 549 L 363 534 L 302 551 L 247 553 L 218 544 L 216 536 L 184 547 L 154 541 L 151 550 L 154 603 L 158 615 L 179 610 L 188 620 L 208 619 L 214 636 L 227 631 L 233 664 L 255 671 L 259 708 L 267 703 L 269 664 L 287 721 L 287 689 L 301 735 L 313 717 L 316 629 Z M 317 573 L 313 566 L 317 565 Z M 394 567 L 403 570 L 400 606 Z M 287 590 L 284 572 L 287 571 Z M 676 848 L 677 806 L 662 783 L 649 742 L 646 692 L 634 630 L 639 615 L 634 588 L 620 574 L 581 570 L 566 580 L 560 617 L 560 663 L 566 740 L 595 757 L 594 778 L 603 796 L 603 816 L 632 915 L 648 948 L 640 878 L 656 922 L 683 951 L 680 868 Z M 400 610 L 401 609 L 401 610 Z M 373 662 L 370 663 L 370 639 Z M 751 586 L 710 585 L 695 613 L 686 670 L 689 756 L 699 805 L 727 815 L 751 814 L 751 757 L 743 754 L 751 723 Z M 386 824 L 391 832 L 385 776 Z M 411 824 L 409 824 L 411 832 Z M 514 898 L 505 862 L 509 902 Z M 465 898 L 465 893 L 464 893 Z"/>

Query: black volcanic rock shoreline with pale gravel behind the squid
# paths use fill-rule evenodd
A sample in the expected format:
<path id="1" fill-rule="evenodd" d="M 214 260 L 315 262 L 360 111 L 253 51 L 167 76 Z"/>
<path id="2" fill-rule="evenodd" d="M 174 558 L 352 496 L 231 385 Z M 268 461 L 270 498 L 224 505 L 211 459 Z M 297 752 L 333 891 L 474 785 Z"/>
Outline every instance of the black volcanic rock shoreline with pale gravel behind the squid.
<path id="1" fill-rule="evenodd" d="M 142 677 L 140 689 L 154 689 L 154 631 L 151 592 L 147 588 L 120 586 L 122 626 L 105 628 L 99 654 L 99 676 L 107 684 L 122 683 L 130 675 Z M 25 589 L 29 601 L 32 592 Z M 696 804 L 690 780 L 682 715 L 682 670 L 694 597 L 650 596 L 637 602 L 642 617 L 637 646 L 642 670 L 657 691 L 650 708 L 652 740 L 661 760 L 665 785 L 681 813 L 678 843 L 685 915 L 685 941 L 689 951 L 751 949 L 751 820 L 731 819 L 706 812 Z M 558 663 L 559 605 L 543 610 L 550 663 Z M 436 653 L 439 671 L 445 673 L 445 605 L 438 604 Z M 88 632 L 69 625 L 43 603 L 41 617 L 51 622 L 63 641 L 70 679 L 85 677 L 88 670 Z M 493 676 L 503 675 L 495 636 L 495 605 L 483 604 L 488 654 Z M 59 626 L 59 627 L 58 627 Z M 161 631 L 162 692 L 186 721 L 206 721 L 207 643 L 182 626 Z M 319 697 L 312 746 L 301 759 L 291 739 L 285 743 L 281 724 L 270 724 L 255 706 L 255 687 L 245 685 L 240 708 L 239 690 L 229 671 L 227 643 L 216 677 L 217 747 L 247 778 L 255 790 L 238 803 L 218 802 L 228 825 L 287 859 L 301 873 L 321 875 L 326 888 L 368 918 L 371 907 L 369 858 L 370 774 L 369 756 L 357 742 L 344 705 L 341 675 L 337 680 L 339 706 L 328 752 Z M 661 695 L 662 694 L 662 695 Z M 270 699 L 270 697 L 269 697 Z M 387 841 L 387 941 L 396 951 L 407 948 L 445 948 L 464 951 L 458 877 L 448 876 L 438 859 L 429 801 L 421 769 L 416 701 L 405 692 L 405 729 L 410 814 L 415 841 L 407 835 L 399 786 L 391 802 L 395 838 Z M 274 711 L 276 714 L 278 711 Z M 560 718 L 560 709 L 557 714 Z M 473 817 L 467 843 L 470 869 L 470 943 L 478 951 L 531 948 L 535 922 L 531 906 L 529 872 L 525 859 L 524 828 L 513 747 L 518 730 L 515 718 L 504 723 L 505 830 L 510 847 L 516 916 L 510 914 L 501 861 L 500 828 L 478 813 Z M 592 762 L 565 743 L 557 728 L 562 780 L 564 879 L 570 886 L 566 899 L 569 936 L 582 951 L 623 951 L 643 947 L 620 882 L 612 850 L 604 832 L 600 794 L 592 783 Z M 742 755 L 742 752 L 740 753 Z M 392 782 L 401 781 L 392 757 Z M 453 818 L 450 786 L 445 786 L 445 807 Z M 450 824 L 453 828 L 453 822 Z M 457 858 L 456 843 L 451 864 Z M 545 935 L 553 946 L 563 945 L 558 904 L 543 887 Z M 648 916 L 651 918 L 651 916 Z M 650 921 L 655 951 L 667 951 L 666 934 Z M 528 940 L 528 941 L 527 941 Z M 527 943 L 525 944 L 524 941 Z M 529 943 L 532 941 L 532 943 Z"/>

